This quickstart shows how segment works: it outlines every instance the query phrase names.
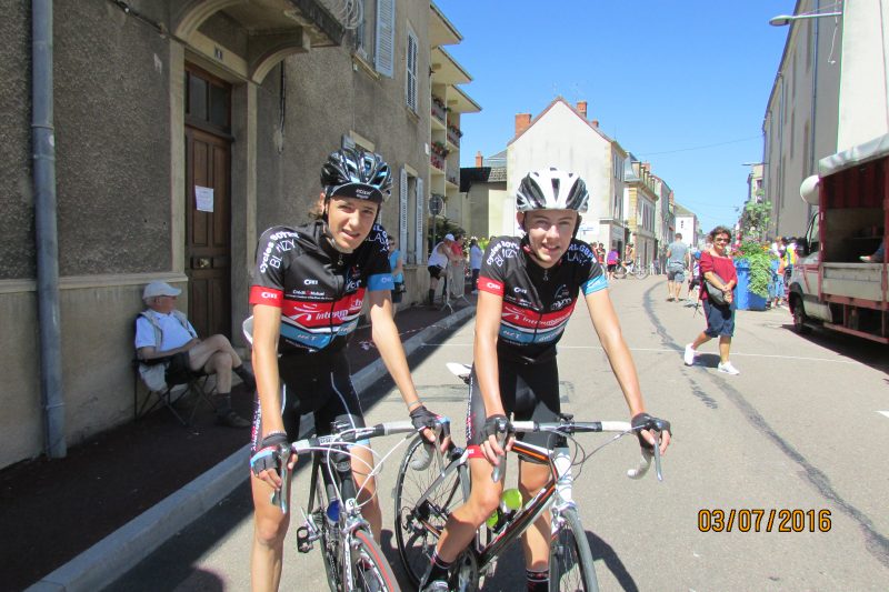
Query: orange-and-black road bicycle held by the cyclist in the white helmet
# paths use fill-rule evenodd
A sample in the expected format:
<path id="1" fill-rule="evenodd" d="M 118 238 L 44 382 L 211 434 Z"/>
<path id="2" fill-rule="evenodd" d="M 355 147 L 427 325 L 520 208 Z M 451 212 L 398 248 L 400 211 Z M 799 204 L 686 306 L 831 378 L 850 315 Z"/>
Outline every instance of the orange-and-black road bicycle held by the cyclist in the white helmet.
<path id="1" fill-rule="evenodd" d="M 550 479 L 521 509 L 501 516 L 496 530 L 487 526 L 479 530 L 469 548 L 455 562 L 449 590 L 479 590 L 480 580 L 493 572 L 499 555 L 547 510 L 552 515 L 550 590 L 598 590 L 589 542 L 571 494 L 571 468 L 582 464 L 602 446 L 622 435 L 633 433 L 633 428 L 626 421 L 576 422 L 570 414 L 562 414 L 557 422 L 511 422 L 511 429 L 553 434 L 552 446 L 541 448 L 517 440 L 511 451 L 521 460 L 549 464 Z M 646 429 L 659 433 L 669 430 L 669 423 L 652 418 L 646 425 L 637 428 Z M 578 445 L 576 452 L 579 454 L 571 456 L 568 440 L 573 442 L 573 435 L 581 432 L 617 432 L 618 435 L 590 453 L 583 452 Z M 429 462 L 430 453 L 434 462 Z M 641 479 L 652 458 L 658 479 L 662 480 L 658 445 L 653 452 L 643 453 L 639 465 L 627 472 L 628 476 Z M 452 446 L 446 454 L 439 454 L 420 439 L 414 439 L 404 454 L 394 490 L 396 542 L 404 570 L 414 585 L 420 583 L 429 566 L 448 516 L 469 496 L 468 461 L 467 450 Z M 499 466 L 503 466 L 503 461 Z M 497 472 L 496 468 L 491 475 L 495 480 L 500 476 Z"/>

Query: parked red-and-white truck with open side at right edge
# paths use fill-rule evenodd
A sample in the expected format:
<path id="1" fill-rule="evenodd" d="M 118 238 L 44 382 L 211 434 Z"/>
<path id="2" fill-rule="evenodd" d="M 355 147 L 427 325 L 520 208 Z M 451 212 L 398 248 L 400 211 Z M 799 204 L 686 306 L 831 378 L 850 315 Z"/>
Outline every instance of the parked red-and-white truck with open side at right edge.
<path id="1" fill-rule="evenodd" d="M 887 248 L 889 134 L 822 159 L 800 195 L 818 211 L 790 275 L 793 327 L 889 343 L 887 258 L 861 261 Z"/>

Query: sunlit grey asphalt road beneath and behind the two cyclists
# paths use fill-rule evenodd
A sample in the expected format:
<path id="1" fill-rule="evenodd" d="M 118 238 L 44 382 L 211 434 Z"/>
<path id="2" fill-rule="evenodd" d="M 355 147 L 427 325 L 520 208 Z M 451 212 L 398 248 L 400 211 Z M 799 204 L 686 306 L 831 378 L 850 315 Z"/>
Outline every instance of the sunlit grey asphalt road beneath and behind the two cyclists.
<path id="1" fill-rule="evenodd" d="M 797 335 L 786 310 L 739 311 L 732 361 L 741 374 L 716 371 L 715 342 L 688 368 L 682 348 L 703 319 L 666 302 L 665 283 L 628 279 L 611 288 L 649 411 L 672 422 L 675 440 L 662 483 L 623 476 L 637 458 L 629 438 L 589 459 L 577 479 L 601 589 L 886 590 L 889 458 L 880 451 L 889 449 L 889 349 L 831 333 Z M 471 351 L 470 321 L 411 363 L 423 399 L 453 419 L 461 442 L 466 388 L 444 363 L 469 362 Z M 583 304 L 559 360 L 567 411 L 579 420 L 627 418 Z M 367 412 L 372 422 L 404 414 L 391 384 L 366 398 L 377 401 Z M 602 441 L 583 438 L 588 449 Z M 398 439 L 376 442 L 384 451 Z M 381 478 L 384 524 L 397 468 L 391 462 Z M 294 483 L 296 503 L 306 481 L 300 474 Z M 110 590 L 249 590 L 250 511 L 244 485 Z M 722 532 L 715 532 L 713 511 L 725 512 Z M 383 543 L 398 568 L 390 532 Z M 294 544 L 288 539 L 281 590 L 327 590 L 320 554 L 299 554 Z M 515 550 L 485 589 L 522 588 Z"/>

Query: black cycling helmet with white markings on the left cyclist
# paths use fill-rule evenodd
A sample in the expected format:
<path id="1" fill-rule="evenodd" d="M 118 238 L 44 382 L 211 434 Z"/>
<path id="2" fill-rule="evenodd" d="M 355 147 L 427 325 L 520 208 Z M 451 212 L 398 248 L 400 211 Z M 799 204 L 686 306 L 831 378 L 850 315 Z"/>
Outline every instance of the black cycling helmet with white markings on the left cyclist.
<path id="1" fill-rule="evenodd" d="M 382 204 L 392 191 L 392 173 L 379 154 L 342 148 L 327 158 L 321 185 L 328 199 L 336 195 Z"/>

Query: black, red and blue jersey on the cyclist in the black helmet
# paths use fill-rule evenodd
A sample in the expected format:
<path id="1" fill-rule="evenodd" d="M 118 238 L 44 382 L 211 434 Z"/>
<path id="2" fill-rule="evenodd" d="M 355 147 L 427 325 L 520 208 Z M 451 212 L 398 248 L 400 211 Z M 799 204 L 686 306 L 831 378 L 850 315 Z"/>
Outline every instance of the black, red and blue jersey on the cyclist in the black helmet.
<path id="1" fill-rule="evenodd" d="M 392 285 L 381 225 L 374 224 L 353 252 L 340 253 L 318 221 L 262 233 L 250 303 L 281 309 L 279 353 L 336 352 L 358 327 L 364 292 Z"/>

